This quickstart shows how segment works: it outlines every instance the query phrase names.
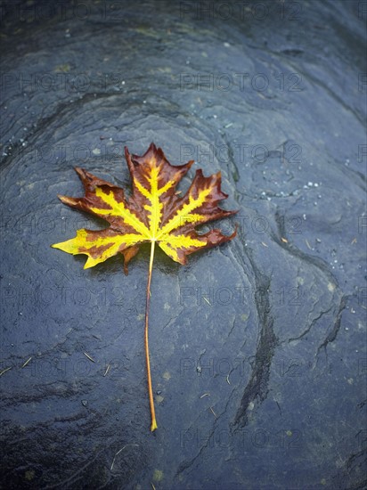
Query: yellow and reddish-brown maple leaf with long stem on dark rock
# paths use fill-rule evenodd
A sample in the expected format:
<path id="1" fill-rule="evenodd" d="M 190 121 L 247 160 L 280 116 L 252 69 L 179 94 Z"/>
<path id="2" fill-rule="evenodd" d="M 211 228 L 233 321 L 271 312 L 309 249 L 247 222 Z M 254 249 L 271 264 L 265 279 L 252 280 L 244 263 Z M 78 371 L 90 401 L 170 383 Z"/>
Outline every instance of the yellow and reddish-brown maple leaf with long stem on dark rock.
<path id="1" fill-rule="evenodd" d="M 151 242 L 147 297 L 145 308 L 145 354 L 151 404 L 151 430 L 157 429 L 151 389 L 151 369 L 148 348 L 148 316 L 151 290 L 151 271 L 154 248 L 157 243 L 175 262 L 186 264 L 187 256 L 200 249 L 208 249 L 236 235 L 224 235 L 220 230 L 197 233 L 195 227 L 209 221 L 232 216 L 237 211 L 218 207 L 228 196 L 221 191 L 220 172 L 205 177 L 198 169 L 192 184 L 183 197 L 175 191 L 176 185 L 192 167 L 193 160 L 180 166 L 171 165 L 163 151 L 151 143 L 143 156 L 131 155 L 125 147 L 127 166 L 133 184 L 133 193 L 126 198 L 123 189 L 110 184 L 83 168 L 76 167 L 86 191 L 83 198 L 59 195 L 60 200 L 105 219 L 110 226 L 101 231 L 85 228 L 77 236 L 52 245 L 72 255 L 86 254 L 84 268 L 94 267 L 121 253 L 124 268 L 135 257 L 143 242 Z"/>

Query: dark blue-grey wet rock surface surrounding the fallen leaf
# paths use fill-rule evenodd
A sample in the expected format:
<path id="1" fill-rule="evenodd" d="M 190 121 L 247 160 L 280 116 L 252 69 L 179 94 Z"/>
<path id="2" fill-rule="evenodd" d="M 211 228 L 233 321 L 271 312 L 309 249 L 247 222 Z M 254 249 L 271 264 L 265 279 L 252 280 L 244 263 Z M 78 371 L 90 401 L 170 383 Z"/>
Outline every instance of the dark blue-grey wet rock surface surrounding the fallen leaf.
<path id="1" fill-rule="evenodd" d="M 4 488 L 366 485 L 364 4 L 4 9 Z M 148 247 L 127 277 L 49 247 L 104 226 L 57 199 L 73 167 L 128 190 L 152 141 L 239 209 L 225 246 L 157 254 L 153 434 Z"/>

